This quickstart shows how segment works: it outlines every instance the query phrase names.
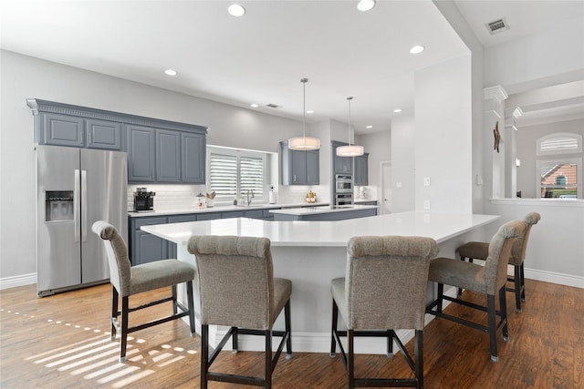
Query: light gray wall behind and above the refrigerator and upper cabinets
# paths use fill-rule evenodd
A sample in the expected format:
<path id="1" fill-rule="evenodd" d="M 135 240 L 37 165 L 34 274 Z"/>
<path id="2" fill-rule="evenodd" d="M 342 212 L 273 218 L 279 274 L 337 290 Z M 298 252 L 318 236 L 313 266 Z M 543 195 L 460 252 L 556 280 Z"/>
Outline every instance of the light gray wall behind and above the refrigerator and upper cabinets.
<path id="1" fill-rule="evenodd" d="M 221 146 L 277 151 L 278 141 L 302 131 L 302 124 L 295 120 L 29 56 L 0 54 L 0 280 L 36 273 L 33 116 L 26 98 L 204 125 L 211 128 L 208 142 Z"/>

